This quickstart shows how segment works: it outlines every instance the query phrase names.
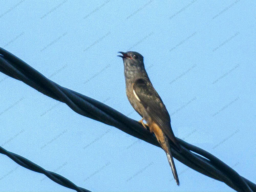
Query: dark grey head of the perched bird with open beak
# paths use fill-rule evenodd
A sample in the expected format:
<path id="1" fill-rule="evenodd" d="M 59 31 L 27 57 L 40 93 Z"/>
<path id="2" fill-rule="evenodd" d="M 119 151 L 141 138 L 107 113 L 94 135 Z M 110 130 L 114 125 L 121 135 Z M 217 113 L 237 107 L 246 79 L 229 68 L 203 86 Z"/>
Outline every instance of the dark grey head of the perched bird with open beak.
<path id="1" fill-rule="evenodd" d="M 123 58 L 124 66 L 125 67 L 144 67 L 143 63 L 143 56 L 135 51 L 127 51 L 122 52 L 122 55 L 118 55 L 119 57 Z"/>

